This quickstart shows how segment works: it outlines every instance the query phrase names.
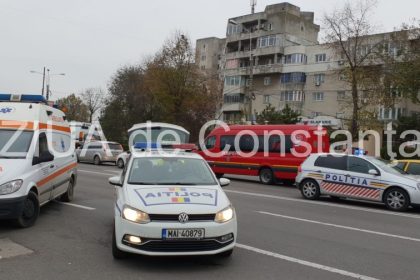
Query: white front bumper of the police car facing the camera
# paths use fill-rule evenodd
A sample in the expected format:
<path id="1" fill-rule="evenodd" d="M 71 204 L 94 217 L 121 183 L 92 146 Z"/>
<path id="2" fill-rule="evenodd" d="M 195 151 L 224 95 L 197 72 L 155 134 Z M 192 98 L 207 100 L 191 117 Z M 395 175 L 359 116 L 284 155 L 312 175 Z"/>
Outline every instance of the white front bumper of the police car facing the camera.
<path id="1" fill-rule="evenodd" d="M 201 240 L 165 240 L 162 239 L 163 229 L 193 229 L 205 230 L 205 238 Z M 222 237 L 231 234 L 232 237 L 222 240 Z M 128 242 L 124 236 L 140 237 L 140 244 Z M 188 255 L 215 255 L 235 247 L 237 238 L 236 218 L 229 222 L 219 224 L 216 222 L 150 222 L 136 224 L 115 218 L 115 236 L 117 247 L 125 252 L 149 256 L 188 256 Z"/>

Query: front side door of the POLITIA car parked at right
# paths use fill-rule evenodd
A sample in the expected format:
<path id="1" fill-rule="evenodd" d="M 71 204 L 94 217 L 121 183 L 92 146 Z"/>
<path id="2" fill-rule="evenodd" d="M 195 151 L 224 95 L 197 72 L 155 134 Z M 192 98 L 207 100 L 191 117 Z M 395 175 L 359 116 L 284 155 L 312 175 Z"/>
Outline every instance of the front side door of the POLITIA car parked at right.
<path id="1" fill-rule="evenodd" d="M 349 156 L 347 160 L 346 176 L 350 188 L 345 191 L 346 196 L 380 201 L 384 187 L 379 169 L 361 157 Z M 376 175 L 370 174 L 371 170 L 374 170 Z"/>

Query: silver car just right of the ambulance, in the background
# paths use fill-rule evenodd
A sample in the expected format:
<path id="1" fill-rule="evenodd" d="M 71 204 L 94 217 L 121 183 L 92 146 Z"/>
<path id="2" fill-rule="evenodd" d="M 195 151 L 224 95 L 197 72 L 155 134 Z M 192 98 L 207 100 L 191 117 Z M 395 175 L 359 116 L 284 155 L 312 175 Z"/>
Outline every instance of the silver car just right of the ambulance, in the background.
<path id="1" fill-rule="evenodd" d="M 117 157 L 123 152 L 121 144 L 116 142 L 89 142 L 76 150 L 79 162 L 90 162 L 100 165 L 104 162 L 116 163 Z"/>

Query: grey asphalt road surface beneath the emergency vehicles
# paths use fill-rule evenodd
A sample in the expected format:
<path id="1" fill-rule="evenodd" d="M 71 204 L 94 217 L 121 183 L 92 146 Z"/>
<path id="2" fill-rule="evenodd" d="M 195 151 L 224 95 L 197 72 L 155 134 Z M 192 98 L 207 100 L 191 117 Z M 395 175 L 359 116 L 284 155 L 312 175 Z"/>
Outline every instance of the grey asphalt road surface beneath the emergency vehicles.
<path id="1" fill-rule="evenodd" d="M 24 247 L 21 256 L 0 258 L 0 279 L 420 279 L 420 211 L 306 201 L 294 187 L 237 176 L 225 188 L 239 227 L 230 259 L 115 261 L 108 177 L 118 173 L 80 164 L 72 205 L 47 204 L 29 229 L 0 222 L 0 241 Z"/>

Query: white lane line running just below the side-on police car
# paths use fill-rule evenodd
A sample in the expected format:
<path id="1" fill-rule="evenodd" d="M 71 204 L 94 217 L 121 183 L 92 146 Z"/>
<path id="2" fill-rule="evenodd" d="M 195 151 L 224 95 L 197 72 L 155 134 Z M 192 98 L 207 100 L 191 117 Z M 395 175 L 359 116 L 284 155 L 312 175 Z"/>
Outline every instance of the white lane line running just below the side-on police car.
<path id="1" fill-rule="evenodd" d="M 252 192 L 242 192 L 242 191 L 234 191 L 234 190 L 224 190 L 224 191 L 227 192 L 227 193 L 236 193 L 236 194 L 243 194 L 243 195 L 264 197 L 264 198 L 273 198 L 273 199 L 293 201 L 293 202 L 306 203 L 306 204 L 315 204 L 315 205 L 322 205 L 322 206 L 328 206 L 328 207 L 337 207 L 337 208 L 357 210 L 357 211 L 370 212 L 370 213 L 376 213 L 376 214 L 384 214 L 384 215 L 400 216 L 400 217 L 412 218 L 412 219 L 420 219 L 420 215 L 404 214 L 404 213 L 396 213 L 396 212 L 391 212 L 391 211 L 368 209 L 368 208 L 363 208 L 362 206 L 356 207 L 356 206 L 335 204 L 335 203 L 330 203 L 330 202 L 312 201 L 312 200 L 298 199 L 298 198 L 292 198 L 292 197 L 286 197 L 286 196 L 276 196 L 276 195 L 252 193 Z"/>

